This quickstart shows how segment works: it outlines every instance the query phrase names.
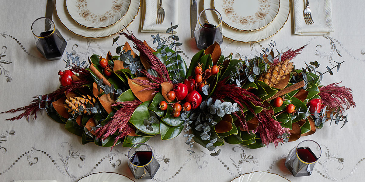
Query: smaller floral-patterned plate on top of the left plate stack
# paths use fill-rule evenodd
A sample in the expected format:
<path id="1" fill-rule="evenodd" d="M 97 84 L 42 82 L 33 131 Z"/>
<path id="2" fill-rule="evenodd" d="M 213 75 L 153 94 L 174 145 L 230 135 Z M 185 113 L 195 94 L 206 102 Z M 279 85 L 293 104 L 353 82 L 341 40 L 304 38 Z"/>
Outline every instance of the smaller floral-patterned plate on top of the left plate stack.
<path id="1" fill-rule="evenodd" d="M 131 0 L 66 0 L 66 11 L 86 28 L 105 28 L 116 24 L 127 13 Z"/>

